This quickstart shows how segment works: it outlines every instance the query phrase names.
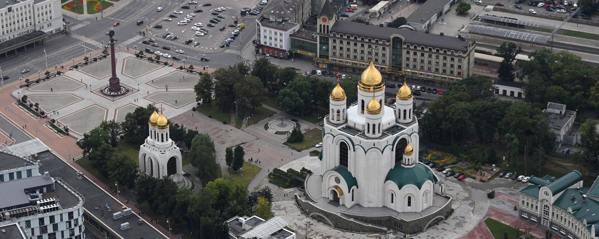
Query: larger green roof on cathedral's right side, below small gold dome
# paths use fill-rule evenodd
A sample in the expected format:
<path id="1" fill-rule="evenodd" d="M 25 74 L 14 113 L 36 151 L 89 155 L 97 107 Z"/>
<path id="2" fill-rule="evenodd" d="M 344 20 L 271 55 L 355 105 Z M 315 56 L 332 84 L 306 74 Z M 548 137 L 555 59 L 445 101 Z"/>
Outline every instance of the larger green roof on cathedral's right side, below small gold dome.
<path id="1" fill-rule="evenodd" d="M 407 184 L 414 184 L 420 189 L 426 180 L 431 180 L 432 183 L 435 183 L 435 177 L 432 172 L 420 163 L 414 165 L 412 168 L 405 168 L 401 165 L 395 166 L 395 168 L 389 170 L 385 178 L 385 181 L 387 180 L 393 181 L 399 189 Z"/>

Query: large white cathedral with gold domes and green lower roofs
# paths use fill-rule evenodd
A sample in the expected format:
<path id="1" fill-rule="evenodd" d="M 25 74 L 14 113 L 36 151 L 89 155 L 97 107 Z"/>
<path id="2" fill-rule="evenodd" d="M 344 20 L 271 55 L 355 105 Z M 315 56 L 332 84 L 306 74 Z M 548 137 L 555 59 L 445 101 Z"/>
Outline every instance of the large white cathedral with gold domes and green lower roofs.
<path id="1" fill-rule="evenodd" d="M 428 211 L 439 211 L 437 205 L 423 212 L 433 206 L 435 194 L 449 198 L 443 202 L 449 203 L 449 207 L 443 206 L 449 210 L 450 197 L 444 196 L 443 182 L 418 160 L 412 90 L 404 83 L 393 107 L 383 101 L 385 83 L 372 62 L 359 80 L 357 102 L 347 105 L 345 92 L 337 83 L 330 96 L 330 115 L 324 120 L 322 167 L 307 180 L 308 196 L 314 203 L 322 198 L 329 204 L 338 202 L 343 208 L 340 211 L 349 217 L 356 206 L 367 209 L 362 211 L 379 208 L 375 211 L 384 209 L 396 215 L 422 212 L 426 216 Z M 315 186 L 321 192 L 308 189 L 314 178 L 322 183 Z M 400 220 L 394 220 L 392 227 L 401 229 Z"/>

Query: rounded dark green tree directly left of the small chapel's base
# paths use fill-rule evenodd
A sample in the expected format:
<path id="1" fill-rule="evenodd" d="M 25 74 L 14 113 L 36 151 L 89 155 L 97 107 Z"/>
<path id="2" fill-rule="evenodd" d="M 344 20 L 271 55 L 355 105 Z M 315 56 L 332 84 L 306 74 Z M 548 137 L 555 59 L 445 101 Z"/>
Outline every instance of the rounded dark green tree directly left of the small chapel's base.
<path id="1" fill-rule="evenodd" d="M 114 153 L 105 168 L 107 168 L 109 179 L 114 179 L 129 189 L 135 186 L 135 180 L 140 172 L 133 159 L 122 152 Z"/>

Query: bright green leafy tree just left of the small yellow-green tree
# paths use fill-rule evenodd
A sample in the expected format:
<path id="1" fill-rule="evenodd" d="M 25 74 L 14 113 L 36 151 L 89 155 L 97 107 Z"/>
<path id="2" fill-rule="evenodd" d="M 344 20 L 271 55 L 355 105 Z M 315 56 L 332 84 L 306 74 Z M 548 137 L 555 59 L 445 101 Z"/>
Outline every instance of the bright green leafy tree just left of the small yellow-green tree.
<path id="1" fill-rule="evenodd" d="M 247 211 L 247 187 L 240 181 L 233 179 L 231 175 L 226 174 L 220 179 L 211 181 L 206 185 L 214 193 L 216 201 L 214 208 L 222 214 L 226 212 L 228 216 L 244 216 Z"/>

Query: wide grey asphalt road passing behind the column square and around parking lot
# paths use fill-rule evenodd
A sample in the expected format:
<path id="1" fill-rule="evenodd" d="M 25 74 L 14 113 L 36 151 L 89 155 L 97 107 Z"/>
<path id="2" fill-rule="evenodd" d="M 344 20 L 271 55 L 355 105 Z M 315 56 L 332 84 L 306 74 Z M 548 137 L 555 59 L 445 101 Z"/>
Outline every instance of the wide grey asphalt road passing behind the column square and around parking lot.
<path id="1" fill-rule="evenodd" d="M 247 4 L 250 4 L 250 1 L 253 2 L 253 0 L 244 1 L 246 1 Z M 70 22 L 67 26 L 73 28 L 71 35 L 51 41 L 44 46 L 21 52 L 16 56 L 10 56 L 8 59 L 0 59 L 2 74 L 10 77 L 8 80 L 5 80 L 4 83 L 18 81 L 19 77 L 23 77 L 23 80 L 25 80 L 25 77 L 35 78 L 37 77 L 37 71 L 41 72 L 40 75 L 44 74 L 46 64 L 48 68 L 53 68 L 56 65 L 60 66 L 60 64 L 68 62 L 68 60 L 89 54 L 90 51 L 102 49 L 102 41 L 104 41 L 104 44 L 107 44 L 109 40 L 105 31 L 110 29 L 114 29 L 115 37 L 119 40 L 117 45 L 129 47 L 129 49 L 134 49 L 134 46 L 143 49 L 147 47 L 147 45 L 141 44 L 141 41 L 146 38 L 141 38 L 140 40 L 132 41 L 131 43 L 128 43 L 128 40 L 131 40 L 134 37 L 139 38 L 139 32 L 146 31 L 147 25 L 158 19 L 164 18 L 163 15 L 165 12 L 173 12 L 174 10 L 180 9 L 181 2 L 187 1 L 179 0 L 167 2 L 134 0 L 128 7 L 101 20 L 81 22 L 67 18 Z M 156 11 L 157 7 L 162 7 L 164 10 L 160 12 Z M 144 25 L 138 26 L 136 24 L 138 20 L 143 20 Z M 119 21 L 120 25 L 113 27 L 113 23 L 116 21 Z M 253 18 L 246 18 L 244 23 L 253 23 L 254 21 Z M 227 52 L 199 53 L 189 49 L 183 49 L 187 56 L 186 63 L 199 66 L 210 65 L 212 68 L 220 68 L 240 62 L 241 60 L 238 59 L 237 53 L 240 50 L 240 47 L 243 48 L 252 40 L 255 35 L 255 29 L 256 24 L 247 24 L 244 31 L 241 32 L 240 36 L 237 37 L 229 47 L 231 50 Z M 218 31 L 218 29 L 214 29 L 213 31 Z M 147 38 L 156 38 L 158 41 L 162 40 L 160 36 L 147 36 Z M 161 44 L 161 46 L 164 45 L 165 44 Z M 47 62 L 44 60 L 44 49 L 47 53 Z M 174 53 L 177 49 L 178 48 L 174 46 L 171 49 L 171 52 Z M 164 52 L 164 50 L 162 51 Z M 171 55 L 176 55 L 176 53 Z M 202 57 L 210 58 L 210 62 L 201 62 L 199 59 Z M 22 69 L 29 69 L 30 72 L 21 74 L 20 71 Z"/>

